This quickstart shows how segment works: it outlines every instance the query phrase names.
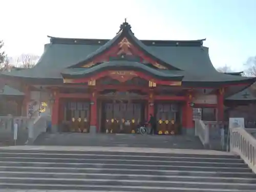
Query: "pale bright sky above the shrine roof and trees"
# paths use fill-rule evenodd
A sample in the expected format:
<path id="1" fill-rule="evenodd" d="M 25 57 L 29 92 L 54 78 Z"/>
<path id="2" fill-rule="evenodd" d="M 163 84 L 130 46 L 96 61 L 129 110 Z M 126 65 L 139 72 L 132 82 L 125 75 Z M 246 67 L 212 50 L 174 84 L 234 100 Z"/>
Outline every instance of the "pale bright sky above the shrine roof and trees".
<path id="1" fill-rule="evenodd" d="M 9 56 L 41 55 L 47 35 L 113 38 L 127 18 L 139 39 L 203 39 L 216 68 L 244 70 L 256 55 L 255 0 L 1 0 Z"/>

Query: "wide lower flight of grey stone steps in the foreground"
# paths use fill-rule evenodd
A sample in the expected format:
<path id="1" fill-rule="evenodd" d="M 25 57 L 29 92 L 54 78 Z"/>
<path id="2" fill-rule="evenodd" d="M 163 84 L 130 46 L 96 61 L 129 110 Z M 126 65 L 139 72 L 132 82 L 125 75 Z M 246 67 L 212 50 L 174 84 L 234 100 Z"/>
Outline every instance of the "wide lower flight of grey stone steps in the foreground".
<path id="1" fill-rule="evenodd" d="M 256 175 L 238 156 L 228 153 L 215 155 L 212 151 L 204 151 L 195 154 L 193 150 L 183 154 L 156 153 L 157 150 L 153 149 L 147 149 L 147 153 L 92 149 L 45 151 L 42 148 L 0 150 L 0 188 L 119 192 L 256 191 Z"/>

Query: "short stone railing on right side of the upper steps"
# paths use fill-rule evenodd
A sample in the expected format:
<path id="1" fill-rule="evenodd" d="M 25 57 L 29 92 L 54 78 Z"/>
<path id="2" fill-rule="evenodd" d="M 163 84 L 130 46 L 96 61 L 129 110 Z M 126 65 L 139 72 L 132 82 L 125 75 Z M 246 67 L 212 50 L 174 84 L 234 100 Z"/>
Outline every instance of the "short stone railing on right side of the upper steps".
<path id="1" fill-rule="evenodd" d="M 205 148 L 209 147 L 209 127 L 200 119 L 195 120 L 195 136 L 198 136 Z"/>

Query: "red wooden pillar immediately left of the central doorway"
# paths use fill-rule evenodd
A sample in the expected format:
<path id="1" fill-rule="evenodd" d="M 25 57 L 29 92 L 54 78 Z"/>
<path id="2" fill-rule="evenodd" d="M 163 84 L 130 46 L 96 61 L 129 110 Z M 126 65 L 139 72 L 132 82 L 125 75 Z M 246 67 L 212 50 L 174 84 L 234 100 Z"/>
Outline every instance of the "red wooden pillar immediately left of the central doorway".
<path id="1" fill-rule="evenodd" d="M 93 91 L 91 95 L 91 110 L 90 110 L 90 133 L 97 133 L 97 93 Z"/>

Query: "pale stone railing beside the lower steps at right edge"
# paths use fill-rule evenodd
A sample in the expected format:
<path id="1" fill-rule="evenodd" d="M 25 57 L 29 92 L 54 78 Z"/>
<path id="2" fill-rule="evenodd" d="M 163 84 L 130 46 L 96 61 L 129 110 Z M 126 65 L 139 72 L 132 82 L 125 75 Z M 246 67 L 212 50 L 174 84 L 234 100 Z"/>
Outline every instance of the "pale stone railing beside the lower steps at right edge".
<path id="1" fill-rule="evenodd" d="M 256 173 L 256 139 L 243 128 L 230 129 L 230 151 L 237 153 Z"/>

